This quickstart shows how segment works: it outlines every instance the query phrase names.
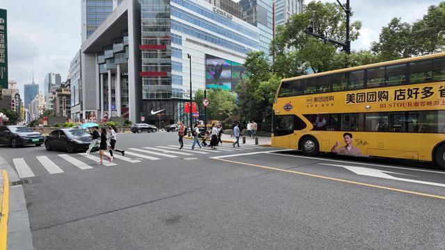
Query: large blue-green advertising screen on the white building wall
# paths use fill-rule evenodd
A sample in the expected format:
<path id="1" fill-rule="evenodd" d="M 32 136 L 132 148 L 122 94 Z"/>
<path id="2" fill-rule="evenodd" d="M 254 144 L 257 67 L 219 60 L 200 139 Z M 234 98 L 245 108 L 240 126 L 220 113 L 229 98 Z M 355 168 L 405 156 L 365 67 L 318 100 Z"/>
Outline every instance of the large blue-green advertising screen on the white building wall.
<path id="1" fill-rule="evenodd" d="M 242 78 L 245 68 L 241 63 L 206 54 L 206 88 L 234 91 Z"/>

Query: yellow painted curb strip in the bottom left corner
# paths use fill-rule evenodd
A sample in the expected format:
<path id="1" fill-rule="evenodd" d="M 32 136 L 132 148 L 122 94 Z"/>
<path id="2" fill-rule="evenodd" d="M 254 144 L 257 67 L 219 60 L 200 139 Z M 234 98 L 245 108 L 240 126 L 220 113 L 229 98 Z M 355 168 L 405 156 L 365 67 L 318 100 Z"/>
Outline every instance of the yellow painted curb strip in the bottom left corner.
<path id="1" fill-rule="evenodd" d="M 3 176 L 3 188 L 1 190 L 0 250 L 6 250 L 9 215 L 9 178 L 6 170 L 1 170 L 1 175 Z"/>

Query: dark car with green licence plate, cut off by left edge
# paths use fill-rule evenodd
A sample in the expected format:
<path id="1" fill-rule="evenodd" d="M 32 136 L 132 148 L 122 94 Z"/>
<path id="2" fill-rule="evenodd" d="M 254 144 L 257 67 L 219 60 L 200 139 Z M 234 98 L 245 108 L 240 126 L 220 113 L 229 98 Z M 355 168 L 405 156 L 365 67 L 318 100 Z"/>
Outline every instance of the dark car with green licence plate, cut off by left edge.
<path id="1" fill-rule="evenodd" d="M 7 144 L 16 148 L 29 144 L 40 146 L 43 142 L 44 136 L 33 131 L 33 128 L 27 126 L 0 126 L 0 144 Z"/>

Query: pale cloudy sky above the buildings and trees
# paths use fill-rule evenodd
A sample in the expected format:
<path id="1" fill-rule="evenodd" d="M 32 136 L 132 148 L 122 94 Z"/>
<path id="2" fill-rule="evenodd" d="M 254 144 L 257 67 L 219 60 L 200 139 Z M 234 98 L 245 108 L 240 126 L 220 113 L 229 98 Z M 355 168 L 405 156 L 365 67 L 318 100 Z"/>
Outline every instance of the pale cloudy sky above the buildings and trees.
<path id="1" fill-rule="evenodd" d="M 335 0 L 322 0 L 336 2 Z M 340 0 L 346 3 L 346 0 Z M 305 3 L 308 3 L 305 0 Z M 382 26 L 393 17 L 414 22 L 426 14 L 432 0 L 350 0 L 354 16 L 362 20 L 359 39 L 352 49 L 369 49 L 378 40 Z M 17 81 L 20 93 L 31 83 L 43 90 L 48 72 L 59 73 L 65 81 L 70 62 L 81 46 L 81 0 L 0 0 L 8 10 L 8 74 Z"/>

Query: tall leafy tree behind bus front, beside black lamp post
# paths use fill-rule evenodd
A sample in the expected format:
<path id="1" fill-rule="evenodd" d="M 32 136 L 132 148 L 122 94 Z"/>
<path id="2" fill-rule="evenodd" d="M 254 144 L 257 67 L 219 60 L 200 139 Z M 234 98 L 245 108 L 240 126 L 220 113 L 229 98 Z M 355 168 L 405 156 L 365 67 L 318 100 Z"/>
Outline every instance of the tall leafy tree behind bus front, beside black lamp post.
<path id="1" fill-rule="evenodd" d="M 305 29 L 314 24 L 314 32 L 325 32 L 329 38 L 346 40 L 346 18 L 337 3 L 312 1 L 305 6 L 305 11 L 293 15 L 289 21 L 277 28 L 277 35 L 270 44 L 270 51 L 275 56 L 273 70 L 279 76 L 289 77 L 312 72 L 324 72 L 336 69 L 337 55 L 341 47 L 325 44 L 322 40 L 305 33 Z M 352 15 L 351 15 L 352 16 Z M 350 40 L 357 40 L 362 22 L 350 24 Z M 343 66 L 344 67 L 344 60 Z"/>

